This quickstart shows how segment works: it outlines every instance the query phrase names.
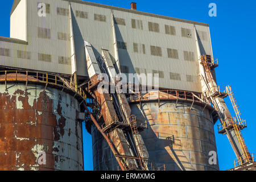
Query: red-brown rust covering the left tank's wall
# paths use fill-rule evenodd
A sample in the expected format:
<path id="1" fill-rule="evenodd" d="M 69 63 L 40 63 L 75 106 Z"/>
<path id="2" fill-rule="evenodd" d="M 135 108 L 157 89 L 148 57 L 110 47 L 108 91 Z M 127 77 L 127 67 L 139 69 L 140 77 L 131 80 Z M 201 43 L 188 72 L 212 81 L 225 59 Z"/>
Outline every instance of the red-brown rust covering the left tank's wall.
<path id="1" fill-rule="evenodd" d="M 56 162 L 63 162 L 65 159 L 52 154 L 59 152 L 55 141 L 65 133 L 66 118 L 61 110 L 59 101 L 57 114 L 60 118 L 57 119 L 53 100 L 43 91 L 38 98 L 19 89 L 12 95 L 0 93 L 0 170 L 54 170 Z M 71 129 L 69 136 L 70 133 Z M 76 134 L 78 136 L 78 132 Z M 35 146 L 43 146 L 47 158 L 45 165 L 37 163 L 37 151 L 32 151 Z"/>

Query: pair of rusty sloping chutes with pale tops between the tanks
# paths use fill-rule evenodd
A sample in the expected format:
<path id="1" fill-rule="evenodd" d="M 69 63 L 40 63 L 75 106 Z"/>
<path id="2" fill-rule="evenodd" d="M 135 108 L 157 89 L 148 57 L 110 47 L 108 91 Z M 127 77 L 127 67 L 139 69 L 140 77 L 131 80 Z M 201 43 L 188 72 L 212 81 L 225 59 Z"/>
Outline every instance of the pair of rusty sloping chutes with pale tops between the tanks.
<path id="1" fill-rule="evenodd" d="M 88 75 L 91 80 L 88 89 L 94 93 L 101 105 L 101 119 L 97 120 L 97 117 L 95 118 L 90 114 L 94 124 L 108 142 L 123 171 L 148 170 L 148 152 L 138 132 L 138 129 L 143 130 L 144 127 L 138 126 L 136 117 L 131 116 L 130 106 L 125 94 L 119 92 L 101 93 L 97 89 L 97 85 L 101 82 L 97 76 L 101 73 L 108 75 L 110 84 L 116 84 L 114 80 L 116 72 L 109 52 L 102 49 L 103 59 L 97 60 L 92 46 L 85 42 L 85 53 Z M 102 123 L 100 124 L 100 122 Z"/>

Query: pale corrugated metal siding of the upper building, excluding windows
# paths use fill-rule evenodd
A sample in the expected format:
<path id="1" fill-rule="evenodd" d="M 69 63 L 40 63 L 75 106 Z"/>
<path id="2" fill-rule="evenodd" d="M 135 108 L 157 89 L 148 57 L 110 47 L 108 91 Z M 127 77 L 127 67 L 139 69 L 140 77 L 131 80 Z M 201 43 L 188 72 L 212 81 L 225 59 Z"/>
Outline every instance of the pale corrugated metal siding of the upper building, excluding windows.
<path id="1" fill-rule="evenodd" d="M 38 3 L 50 4 L 50 13 L 46 17 L 39 17 Z M 15 60 L 5 58 L 1 59 L 1 65 L 20 67 L 27 69 L 36 69 L 40 71 L 57 72 L 71 74 L 71 65 L 59 64 L 59 56 L 70 57 L 69 40 L 58 39 L 58 35 L 69 35 L 68 16 L 58 15 L 57 7 L 68 9 L 68 1 L 32 1 L 28 0 L 28 45 L 4 44 L 2 47 L 13 47 L 13 50 L 22 49 L 31 52 L 30 60 Z M 122 24 L 115 24 L 115 31 L 118 42 L 125 42 L 126 49 L 118 49 L 120 64 L 129 68 L 129 72 L 135 73 L 135 68 L 146 69 L 147 73 L 152 70 L 163 72 L 164 78 L 160 78 L 160 87 L 180 90 L 191 90 L 201 92 L 200 82 L 188 82 L 187 75 L 196 77 L 199 73 L 198 62 L 185 61 L 184 51 L 194 52 L 196 56 L 195 32 L 193 29 L 194 22 L 186 20 L 177 20 L 164 18 L 162 16 L 153 16 L 130 10 L 119 10 L 116 8 L 99 6 L 94 3 L 76 3 L 71 1 L 73 11 L 73 28 L 77 59 L 77 74 L 88 76 L 86 71 L 85 51 L 83 39 L 91 43 L 96 57 L 100 56 L 101 48 L 108 49 L 114 55 L 114 45 L 112 36 L 112 16 L 113 11 L 115 18 L 121 18 Z M 86 16 L 76 17 L 76 11 L 84 12 Z M 106 22 L 94 20 L 94 14 L 106 16 Z M 143 30 L 132 28 L 131 19 L 142 20 Z M 123 25 L 123 20 L 125 25 Z M 148 30 L 148 22 L 159 24 L 159 32 Z M 166 34 L 166 25 L 175 27 L 175 35 Z M 48 28 L 51 30 L 49 39 L 38 38 L 38 27 Z M 191 38 L 181 36 L 181 28 L 191 30 Z M 207 24 L 196 23 L 196 29 L 200 38 L 201 53 L 211 55 L 210 38 Z M 60 36 L 59 36 L 60 37 Z M 133 44 L 144 44 L 145 54 L 134 52 Z M 18 47 L 17 47 L 18 46 Z M 162 56 L 151 56 L 150 46 L 161 47 Z M 179 59 L 168 58 L 167 48 L 177 49 Z M 15 51 L 11 51 L 12 53 Z M 51 55 L 51 62 L 42 62 L 38 60 L 38 53 Z M 8 59 L 10 61 L 8 61 Z M 171 73 L 180 73 L 181 80 L 170 80 Z"/>

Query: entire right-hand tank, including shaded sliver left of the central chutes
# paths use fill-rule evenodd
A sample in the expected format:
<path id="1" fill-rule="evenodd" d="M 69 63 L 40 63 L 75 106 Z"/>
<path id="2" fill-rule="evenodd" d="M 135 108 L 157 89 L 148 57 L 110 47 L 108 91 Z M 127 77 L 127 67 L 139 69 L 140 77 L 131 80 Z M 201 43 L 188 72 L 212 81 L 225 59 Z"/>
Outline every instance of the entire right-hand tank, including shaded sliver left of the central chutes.
<path id="1" fill-rule="evenodd" d="M 156 94 L 159 97 L 166 93 Z M 164 98 L 164 97 L 162 97 Z M 189 100 L 151 99 L 130 101 L 132 114 L 137 122 L 146 122 L 141 132 L 150 156 L 152 169 L 166 170 L 218 170 L 209 164 L 209 152 L 216 151 L 213 108 Z M 193 104 L 192 104 L 193 103 Z M 94 170 L 117 170 L 118 164 L 101 134 L 92 127 Z M 163 169 L 163 168 L 162 168 Z"/>

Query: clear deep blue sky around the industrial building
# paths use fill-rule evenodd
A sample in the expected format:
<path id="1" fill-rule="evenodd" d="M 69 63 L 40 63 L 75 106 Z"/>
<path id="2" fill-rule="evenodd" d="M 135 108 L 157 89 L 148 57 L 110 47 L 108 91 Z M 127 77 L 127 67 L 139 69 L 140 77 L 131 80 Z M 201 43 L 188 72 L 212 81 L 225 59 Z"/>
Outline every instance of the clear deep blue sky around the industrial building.
<path id="1" fill-rule="evenodd" d="M 90 1 L 105 5 L 130 9 L 131 1 Z M 253 119 L 256 103 L 254 93 L 256 67 L 256 1 L 246 0 L 183 0 L 183 1 L 143 1 L 137 2 L 137 10 L 153 14 L 172 16 L 175 18 L 194 20 L 209 23 L 212 38 L 213 55 L 219 60 L 216 68 L 218 85 L 230 84 L 242 113 L 247 121 L 247 129 L 242 131 L 243 137 L 250 152 L 256 153 L 255 135 L 256 121 Z M 217 17 L 208 15 L 209 3 L 216 3 Z M 9 37 L 10 11 L 12 0 L 2 1 L 0 6 L 1 27 L 0 36 Z M 225 99 L 230 111 L 232 106 L 228 98 Z M 234 114 L 234 113 L 233 113 Z M 217 122 L 219 123 L 219 122 Z M 215 126 L 218 160 L 220 169 L 233 167 L 236 158 L 232 147 L 225 135 L 217 133 Z M 85 131 L 85 130 L 84 130 Z M 92 149 L 90 135 L 84 132 L 85 169 L 92 168 Z"/>

